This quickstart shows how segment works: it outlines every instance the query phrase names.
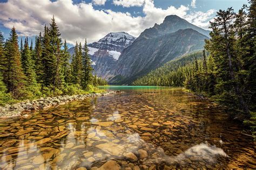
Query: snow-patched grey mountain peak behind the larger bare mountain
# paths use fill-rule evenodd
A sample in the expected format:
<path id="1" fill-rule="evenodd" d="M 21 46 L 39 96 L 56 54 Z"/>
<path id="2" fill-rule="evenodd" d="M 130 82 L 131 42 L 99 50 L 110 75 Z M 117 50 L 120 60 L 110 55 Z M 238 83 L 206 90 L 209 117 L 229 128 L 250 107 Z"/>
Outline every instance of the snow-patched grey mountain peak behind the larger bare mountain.
<path id="1" fill-rule="evenodd" d="M 111 32 L 97 42 L 88 44 L 92 66 L 97 76 L 104 79 L 113 77 L 113 68 L 124 48 L 130 46 L 136 38 L 126 32 Z M 73 54 L 75 47 L 69 49 Z"/>

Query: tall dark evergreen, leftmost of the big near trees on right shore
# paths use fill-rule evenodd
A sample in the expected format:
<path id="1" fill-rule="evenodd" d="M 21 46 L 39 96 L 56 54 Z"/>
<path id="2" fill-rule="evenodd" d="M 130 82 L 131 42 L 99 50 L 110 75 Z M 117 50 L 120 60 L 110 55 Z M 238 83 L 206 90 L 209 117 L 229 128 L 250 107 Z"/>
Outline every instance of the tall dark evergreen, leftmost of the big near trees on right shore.
<path id="1" fill-rule="evenodd" d="M 218 98 L 221 98 L 225 103 L 230 103 L 230 105 L 237 101 L 238 109 L 244 112 L 243 115 L 239 115 L 242 119 L 243 116 L 249 117 L 249 112 L 244 96 L 242 96 L 239 80 L 237 79 L 240 68 L 234 49 L 234 18 L 235 13 L 232 8 L 217 12 L 214 22 L 210 22 L 210 27 L 213 29 L 210 41 L 218 40 L 213 42 L 211 46 L 218 44 L 217 46 L 219 47 L 212 46 L 208 48 L 208 51 L 214 54 L 215 65 L 218 66 L 218 84 L 216 85 L 219 94 Z M 209 45 L 206 47 L 209 47 Z M 226 66 L 228 66 L 228 69 L 226 69 Z"/>

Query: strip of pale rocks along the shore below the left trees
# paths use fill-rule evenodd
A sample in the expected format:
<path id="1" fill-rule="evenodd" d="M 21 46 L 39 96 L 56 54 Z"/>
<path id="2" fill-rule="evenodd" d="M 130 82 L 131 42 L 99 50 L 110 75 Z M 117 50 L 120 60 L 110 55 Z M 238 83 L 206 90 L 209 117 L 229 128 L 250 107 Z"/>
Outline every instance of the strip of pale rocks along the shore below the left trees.
<path id="1" fill-rule="evenodd" d="M 104 93 L 86 94 L 86 95 L 65 95 L 57 97 L 41 97 L 37 100 L 25 100 L 15 104 L 6 104 L 0 107 L 0 118 L 11 118 L 21 116 L 23 111 L 33 111 L 39 109 L 47 109 L 55 105 L 65 104 L 71 101 L 84 100 L 89 97 L 105 96 L 109 94 L 119 93 L 119 91 L 105 91 Z"/>

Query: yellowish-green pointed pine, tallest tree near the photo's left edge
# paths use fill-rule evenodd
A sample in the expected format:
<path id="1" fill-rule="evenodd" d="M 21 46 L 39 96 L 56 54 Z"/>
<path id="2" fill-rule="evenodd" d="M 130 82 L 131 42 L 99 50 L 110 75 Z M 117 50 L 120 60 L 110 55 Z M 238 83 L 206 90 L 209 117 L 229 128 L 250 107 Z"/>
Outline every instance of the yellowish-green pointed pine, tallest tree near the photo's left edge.
<path id="1" fill-rule="evenodd" d="M 21 67 L 21 53 L 18 47 L 18 36 L 15 28 L 11 29 L 10 38 L 6 42 L 6 76 L 4 82 L 7 84 L 8 91 L 15 98 L 23 96 L 22 90 L 25 85 L 25 76 Z"/>

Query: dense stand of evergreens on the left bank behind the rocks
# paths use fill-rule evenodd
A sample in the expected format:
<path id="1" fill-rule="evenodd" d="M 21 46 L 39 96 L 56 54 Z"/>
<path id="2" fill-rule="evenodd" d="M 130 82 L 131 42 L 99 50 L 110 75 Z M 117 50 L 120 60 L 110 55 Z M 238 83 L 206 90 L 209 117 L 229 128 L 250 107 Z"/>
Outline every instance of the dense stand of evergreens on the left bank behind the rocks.
<path id="1" fill-rule="evenodd" d="M 70 56 L 54 17 L 49 27 L 45 25 L 43 35 L 36 36 L 34 46 L 32 43 L 25 38 L 18 45 L 14 27 L 6 41 L 0 32 L 0 105 L 42 96 L 83 94 L 106 84 L 92 75 L 86 39 L 83 46 L 76 43 Z"/>

